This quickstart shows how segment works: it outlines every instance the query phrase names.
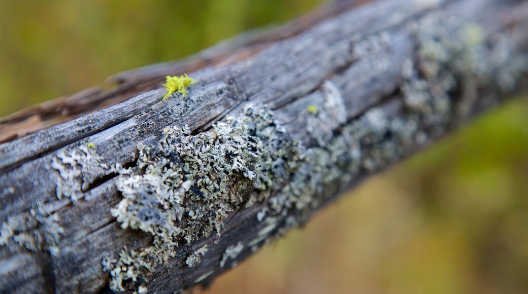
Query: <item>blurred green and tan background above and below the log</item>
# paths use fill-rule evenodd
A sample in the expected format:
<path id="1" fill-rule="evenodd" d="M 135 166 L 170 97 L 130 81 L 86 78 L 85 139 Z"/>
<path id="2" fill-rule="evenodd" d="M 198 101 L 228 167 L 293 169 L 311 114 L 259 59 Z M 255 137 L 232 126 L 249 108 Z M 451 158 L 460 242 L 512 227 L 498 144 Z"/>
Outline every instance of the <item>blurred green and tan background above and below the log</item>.
<path id="1" fill-rule="evenodd" d="M 324 2 L 0 0 L 0 116 Z M 517 97 L 366 181 L 205 292 L 528 293 L 527 175 L 528 101 Z"/>

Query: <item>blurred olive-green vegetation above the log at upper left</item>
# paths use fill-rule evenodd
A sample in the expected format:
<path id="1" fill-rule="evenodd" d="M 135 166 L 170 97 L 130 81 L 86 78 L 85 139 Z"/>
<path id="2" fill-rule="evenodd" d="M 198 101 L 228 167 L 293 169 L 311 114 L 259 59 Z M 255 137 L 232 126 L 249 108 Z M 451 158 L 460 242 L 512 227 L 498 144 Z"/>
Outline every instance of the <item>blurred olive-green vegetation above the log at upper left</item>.
<path id="1" fill-rule="evenodd" d="M 0 116 L 279 24 L 323 0 L 0 0 Z"/>

